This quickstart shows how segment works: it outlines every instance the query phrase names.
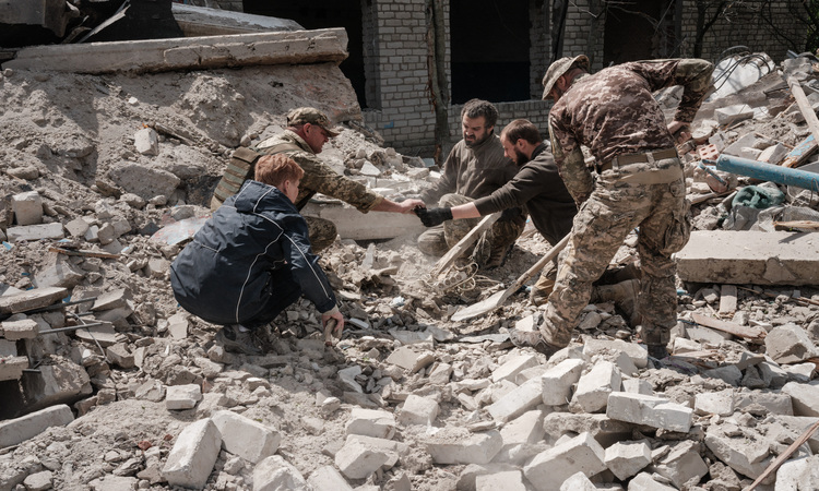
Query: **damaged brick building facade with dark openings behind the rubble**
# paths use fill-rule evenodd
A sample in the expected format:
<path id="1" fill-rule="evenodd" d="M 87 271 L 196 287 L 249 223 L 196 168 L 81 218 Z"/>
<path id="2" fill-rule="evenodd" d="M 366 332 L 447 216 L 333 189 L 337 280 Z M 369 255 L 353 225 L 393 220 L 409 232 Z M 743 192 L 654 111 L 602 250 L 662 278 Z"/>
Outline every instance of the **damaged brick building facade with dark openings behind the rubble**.
<path id="1" fill-rule="evenodd" d="M 435 145 L 436 107 L 439 119 L 446 109 L 456 139 L 461 105 L 473 97 L 497 103 L 500 124 L 527 118 L 546 128 L 541 79 L 561 56 L 586 53 L 593 70 L 690 57 L 696 49 L 716 61 L 737 46 L 783 59 L 804 45 L 807 32 L 787 1 L 732 2 L 712 25 L 713 2 L 681 0 L 320 0 L 309 9 L 262 0 L 186 3 L 292 19 L 309 29 L 343 26 L 349 58 L 341 68 L 365 123 L 404 153 L 428 153 Z M 436 46 L 439 39 L 442 46 Z M 439 82 L 435 71 L 446 76 Z"/>

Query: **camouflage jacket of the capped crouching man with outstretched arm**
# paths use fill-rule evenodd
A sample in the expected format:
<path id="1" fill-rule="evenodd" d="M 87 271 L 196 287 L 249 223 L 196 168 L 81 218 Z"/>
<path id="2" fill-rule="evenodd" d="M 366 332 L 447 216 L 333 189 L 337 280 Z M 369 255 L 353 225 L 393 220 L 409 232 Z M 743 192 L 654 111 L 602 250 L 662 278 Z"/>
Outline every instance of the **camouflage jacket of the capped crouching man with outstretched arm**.
<path id="1" fill-rule="evenodd" d="M 321 161 L 307 144 L 296 133 L 285 130 L 283 133 L 270 137 L 254 148 L 263 155 L 284 153 L 293 158 L 305 171 L 298 187 L 296 207 L 301 209 L 316 193 L 322 193 L 355 206 L 359 212 L 367 213 L 378 206 L 384 197 L 330 168 Z"/>

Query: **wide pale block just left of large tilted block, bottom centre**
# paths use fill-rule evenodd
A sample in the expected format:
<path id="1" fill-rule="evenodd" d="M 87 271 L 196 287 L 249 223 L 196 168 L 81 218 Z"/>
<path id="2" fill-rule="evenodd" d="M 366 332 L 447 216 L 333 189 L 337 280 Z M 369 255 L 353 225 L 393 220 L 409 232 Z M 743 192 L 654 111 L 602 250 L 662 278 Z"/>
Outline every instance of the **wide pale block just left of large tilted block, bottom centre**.
<path id="1" fill-rule="evenodd" d="M 503 446 L 496 430 L 472 433 L 465 428 L 448 427 L 430 435 L 427 452 L 436 464 L 487 464 Z"/>

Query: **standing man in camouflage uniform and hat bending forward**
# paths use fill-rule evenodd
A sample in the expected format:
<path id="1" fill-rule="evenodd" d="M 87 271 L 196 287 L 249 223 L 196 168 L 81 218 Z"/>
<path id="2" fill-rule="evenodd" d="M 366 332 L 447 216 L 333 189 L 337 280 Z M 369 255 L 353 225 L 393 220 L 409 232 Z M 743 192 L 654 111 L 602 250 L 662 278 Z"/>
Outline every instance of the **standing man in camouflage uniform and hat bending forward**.
<path id="1" fill-rule="evenodd" d="M 639 227 L 642 338 L 652 357 L 664 358 L 677 313 L 670 255 L 690 233 L 674 135 L 690 137 L 687 127 L 711 86 L 713 64 L 698 59 L 636 61 L 594 75 L 587 69 L 589 59 L 581 55 L 554 62 L 544 76 L 543 97 L 556 100 L 549 113 L 553 153 L 580 212 L 539 332 L 512 330 L 510 337 L 517 346 L 546 354 L 567 346 L 592 283 Z M 673 85 L 682 85 L 682 99 L 666 124 L 652 92 Z M 596 180 L 580 145 L 596 158 Z"/>

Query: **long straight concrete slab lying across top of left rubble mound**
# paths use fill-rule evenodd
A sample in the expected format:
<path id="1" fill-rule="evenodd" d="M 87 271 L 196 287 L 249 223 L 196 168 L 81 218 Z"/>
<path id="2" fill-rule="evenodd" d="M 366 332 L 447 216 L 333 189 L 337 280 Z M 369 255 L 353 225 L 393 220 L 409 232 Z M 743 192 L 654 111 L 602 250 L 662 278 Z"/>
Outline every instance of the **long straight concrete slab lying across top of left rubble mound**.
<path id="1" fill-rule="evenodd" d="M 232 36 L 34 46 L 17 51 L 3 69 L 73 73 L 165 72 L 227 67 L 341 63 L 347 58 L 343 28 Z M 417 220 L 416 220 L 417 221 Z"/>

